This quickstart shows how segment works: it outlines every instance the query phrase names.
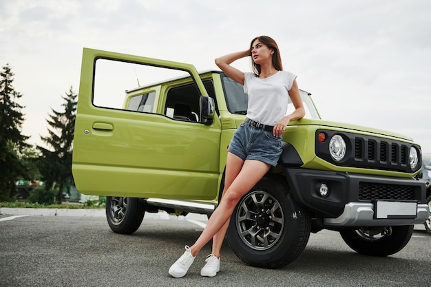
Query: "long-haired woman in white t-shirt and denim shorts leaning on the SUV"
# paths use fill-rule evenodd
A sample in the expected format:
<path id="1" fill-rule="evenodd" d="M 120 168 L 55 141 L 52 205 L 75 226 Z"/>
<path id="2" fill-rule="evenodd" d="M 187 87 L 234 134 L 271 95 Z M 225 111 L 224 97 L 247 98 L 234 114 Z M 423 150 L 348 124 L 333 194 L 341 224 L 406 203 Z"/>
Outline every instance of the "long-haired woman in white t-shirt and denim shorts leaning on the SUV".
<path id="1" fill-rule="evenodd" d="M 251 56 L 253 72 L 244 73 L 230 64 Z M 277 165 L 282 153 L 282 135 L 291 120 L 305 114 L 296 76 L 283 71 L 277 43 L 269 36 L 259 36 L 251 41 L 250 49 L 227 54 L 215 59 L 215 64 L 234 81 L 244 85 L 249 94 L 247 118 L 233 135 L 227 153 L 222 199 L 213 212 L 207 227 L 192 246 L 185 246 L 185 253 L 169 268 L 173 277 L 183 277 L 200 249 L 213 240 L 212 253 L 205 260 L 202 276 L 213 277 L 220 270 L 220 249 L 229 226 L 229 219 L 242 195 Z M 288 96 L 295 111 L 286 116 Z"/>

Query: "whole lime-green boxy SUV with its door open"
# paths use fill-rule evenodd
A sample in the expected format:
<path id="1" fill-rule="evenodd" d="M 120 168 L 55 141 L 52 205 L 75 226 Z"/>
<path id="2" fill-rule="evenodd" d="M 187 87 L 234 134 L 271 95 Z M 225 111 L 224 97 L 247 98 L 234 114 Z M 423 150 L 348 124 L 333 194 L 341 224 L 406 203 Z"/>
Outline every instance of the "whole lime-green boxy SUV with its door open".
<path id="1" fill-rule="evenodd" d="M 397 253 L 429 214 L 425 184 L 415 179 L 421 147 L 399 134 L 322 120 L 311 94 L 301 96 L 306 116 L 286 128 L 277 167 L 233 211 L 233 252 L 276 268 L 302 253 L 311 232 L 330 229 L 358 253 Z M 211 215 L 246 107 L 242 86 L 222 72 L 85 48 L 76 187 L 107 196 L 115 233 L 134 233 L 145 212 Z"/>

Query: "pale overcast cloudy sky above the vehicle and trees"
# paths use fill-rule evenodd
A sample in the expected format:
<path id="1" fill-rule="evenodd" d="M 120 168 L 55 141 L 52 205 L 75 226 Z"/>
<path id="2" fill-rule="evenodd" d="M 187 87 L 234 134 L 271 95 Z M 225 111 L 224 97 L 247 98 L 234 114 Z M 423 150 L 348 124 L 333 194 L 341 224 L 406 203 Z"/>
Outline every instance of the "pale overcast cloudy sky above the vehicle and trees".
<path id="1" fill-rule="evenodd" d="M 83 47 L 202 71 L 268 35 L 322 118 L 405 134 L 431 153 L 430 15 L 429 0 L 0 0 L 0 67 L 23 95 L 22 133 L 43 145 L 51 110 L 78 93 Z"/>

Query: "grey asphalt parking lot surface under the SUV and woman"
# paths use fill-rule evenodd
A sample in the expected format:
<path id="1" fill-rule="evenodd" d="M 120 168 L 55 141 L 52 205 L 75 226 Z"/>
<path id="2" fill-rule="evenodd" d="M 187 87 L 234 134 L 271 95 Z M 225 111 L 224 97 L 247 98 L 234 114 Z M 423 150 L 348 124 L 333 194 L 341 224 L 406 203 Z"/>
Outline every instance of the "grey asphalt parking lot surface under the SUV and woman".
<path id="1" fill-rule="evenodd" d="M 169 266 L 205 220 L 167 218 L 147 217 L 133 235 L 118 235 L 104 217 L 0 215 L 0 286 L 431 286 L 425 231 L 390 257 L 359 255 L 338 233 L 321 231 L 295 262 L 275 270 L 244 264 L 225 242 L 216 277 L 200 276 L 206 246 L 186 277 L 174 279 Z"/>

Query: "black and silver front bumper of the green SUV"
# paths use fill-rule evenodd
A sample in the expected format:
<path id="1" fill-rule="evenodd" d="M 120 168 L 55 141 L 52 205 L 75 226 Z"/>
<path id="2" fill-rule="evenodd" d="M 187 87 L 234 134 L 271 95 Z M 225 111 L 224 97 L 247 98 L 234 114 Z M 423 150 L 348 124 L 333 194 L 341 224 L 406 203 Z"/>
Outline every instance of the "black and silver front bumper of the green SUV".
<path id="1" fill-rule="evenodd" d="M 386 178 L 363 174 L 284 169 L 293 198 L 328 226 L 388 226 L 425 222 L 429 216 L 425 184 L 413 178 Z M 328 187 L 326 196 L 319 187 Z M 376 219 L 375 201 L 417 202 L 414 218 Z"/>

